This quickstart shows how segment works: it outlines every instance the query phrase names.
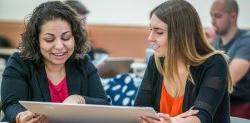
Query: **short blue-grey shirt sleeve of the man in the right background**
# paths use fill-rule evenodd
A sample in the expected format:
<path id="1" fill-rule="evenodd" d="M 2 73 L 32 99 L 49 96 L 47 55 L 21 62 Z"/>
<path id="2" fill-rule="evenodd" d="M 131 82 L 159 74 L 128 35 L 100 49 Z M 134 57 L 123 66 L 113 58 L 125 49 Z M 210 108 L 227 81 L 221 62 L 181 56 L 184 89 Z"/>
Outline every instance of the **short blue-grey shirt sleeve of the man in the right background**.
<path id="1" fill-rule="evenodd" d="M 235 52 L 235 58 L 250 61 L 250 36 L 245 36 L 239 41 Z"/>

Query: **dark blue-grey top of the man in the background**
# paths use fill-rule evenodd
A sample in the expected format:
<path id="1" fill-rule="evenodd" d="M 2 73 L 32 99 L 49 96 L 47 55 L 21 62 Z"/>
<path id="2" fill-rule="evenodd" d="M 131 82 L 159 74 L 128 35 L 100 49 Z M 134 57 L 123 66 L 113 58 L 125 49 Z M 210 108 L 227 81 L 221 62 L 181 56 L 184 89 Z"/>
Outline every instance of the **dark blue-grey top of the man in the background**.
<path id="1" fill-rule="evenodd" d="M 236 35 L 226 45 L 222 44 L 221 38 L 215 39 L 214 47 L 225 51 L 230 59 L 244 59 L 250 62 L 250 32 L 246 30 L 238 30 Z M 242 103 L 250 102 L 250 69 L 234 86 L 231 94 L 231 102 Z"/>

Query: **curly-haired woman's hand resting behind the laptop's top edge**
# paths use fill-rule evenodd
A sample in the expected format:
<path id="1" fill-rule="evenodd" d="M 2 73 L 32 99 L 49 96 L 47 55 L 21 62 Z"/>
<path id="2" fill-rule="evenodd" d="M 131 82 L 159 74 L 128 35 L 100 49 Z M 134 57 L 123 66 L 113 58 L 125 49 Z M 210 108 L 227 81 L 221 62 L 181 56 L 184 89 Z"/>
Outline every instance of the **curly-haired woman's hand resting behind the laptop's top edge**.
<path id="1" fill-rule="evenodd" d="M 63 101 L 63 103 L 85 104 L 85 99 L 80 95 L 70 95 Z"/>

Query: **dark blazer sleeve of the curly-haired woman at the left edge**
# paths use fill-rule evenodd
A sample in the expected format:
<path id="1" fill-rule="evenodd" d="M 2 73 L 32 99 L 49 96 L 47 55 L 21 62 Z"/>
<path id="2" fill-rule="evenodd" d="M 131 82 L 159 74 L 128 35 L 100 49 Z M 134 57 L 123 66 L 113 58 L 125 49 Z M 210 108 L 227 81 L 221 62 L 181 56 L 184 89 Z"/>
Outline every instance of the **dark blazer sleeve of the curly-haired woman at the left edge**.
<path id="1" fill-rule="evenodd" d="M 15 122 L 16 115 L 26 109 L 19 104 L 19 100 L 27 100 L 28 84 L 25 80 L 25 69 L 21 62 L 13 56 L 8 60 L 3 72 L 1 86 L 2 109 L 9 122 Z"/>

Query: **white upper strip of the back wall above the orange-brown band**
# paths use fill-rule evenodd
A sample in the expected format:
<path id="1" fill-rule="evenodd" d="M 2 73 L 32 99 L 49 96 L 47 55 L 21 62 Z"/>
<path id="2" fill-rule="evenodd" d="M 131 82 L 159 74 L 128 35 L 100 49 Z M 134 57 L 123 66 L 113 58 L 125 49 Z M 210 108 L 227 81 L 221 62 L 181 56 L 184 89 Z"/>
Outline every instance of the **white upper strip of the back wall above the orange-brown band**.
<path id="1" fill-rule="evenodd" d="M 0 0 L 0 21 L 23 21 L 40 3 L 47 0 Z M 147 26 L 148 14 L 165 0 L 79 0 L 91 13 L 88 22 L 98 25 Z M 188 0 L 197 9 L 205 27 L 210 26 L 209 9 L 213 0 Z M 239 26 L 250 27 L 250 0 L 238 0 Z"/>

